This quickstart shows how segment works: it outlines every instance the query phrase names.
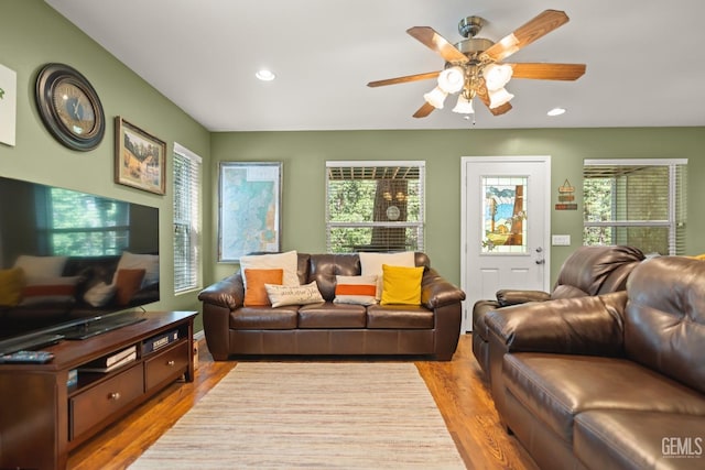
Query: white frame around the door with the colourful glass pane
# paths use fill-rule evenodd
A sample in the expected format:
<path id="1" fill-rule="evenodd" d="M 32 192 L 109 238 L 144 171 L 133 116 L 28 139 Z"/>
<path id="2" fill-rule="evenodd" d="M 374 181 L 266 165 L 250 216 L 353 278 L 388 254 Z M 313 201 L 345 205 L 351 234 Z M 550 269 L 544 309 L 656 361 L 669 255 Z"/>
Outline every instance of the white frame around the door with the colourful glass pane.
<path id="1" fill-rule="evenodd" d="M 551 155 L 507 155 L 507 156 L 463 156 L 460 157 L 460 288 L 467 292 L 467 164 L 468 163 L 512 163 L 518 164 L 538 162 L 544 165 L 544 176 L 547 182 L 544 185 L 544 197 L 546 208 L 544 212 L 543 227 L 543 289 L 549 291 L 551 282 Z M 470 299 L 463 300 L 463 318 L 460 321 L 460 334 L 473 331 L 473 305 Z"/>

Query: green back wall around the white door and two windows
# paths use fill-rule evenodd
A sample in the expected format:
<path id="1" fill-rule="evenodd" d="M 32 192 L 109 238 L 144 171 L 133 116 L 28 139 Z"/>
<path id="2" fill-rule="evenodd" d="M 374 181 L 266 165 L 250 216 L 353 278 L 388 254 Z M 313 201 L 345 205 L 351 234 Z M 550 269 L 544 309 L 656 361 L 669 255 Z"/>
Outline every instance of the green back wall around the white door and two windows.
<path id="1" fill-rule="evenodd" d="M 460 159 L 490 155 L 551 155 L 552 207 L 567 178 L 581 192 L 584 159 L 688 159 L 688 253 L 705 252 L 705 129 L 532 129 L 448 131 L 224 132 L 212 138 L 210 177 L 217 182 L 220 161 L 281 161 L 284 250 L 325 251 L 326 160 L 423 160 L 426 162 L 426 252 L 449 281 L 460 280 Z M 210 192 L 217 220 L 217 190 Z M 579 199 L 579 197 L 578 197 Z M 581 203 L 578 200 L 578 203 Z M 571 247 L 554 247 L 552 280 L 565 258 L 581 244 L 578 210 L 551 210 L 552 233 L 571 234 Z M 217 232 L 217 226 L 212 227 Z M 216 249 L 217 247 L 214 247 Z M 217 253 L 212 252 L 212 259 Z M 236 266 L 216 264 L 216 278 Z"/>

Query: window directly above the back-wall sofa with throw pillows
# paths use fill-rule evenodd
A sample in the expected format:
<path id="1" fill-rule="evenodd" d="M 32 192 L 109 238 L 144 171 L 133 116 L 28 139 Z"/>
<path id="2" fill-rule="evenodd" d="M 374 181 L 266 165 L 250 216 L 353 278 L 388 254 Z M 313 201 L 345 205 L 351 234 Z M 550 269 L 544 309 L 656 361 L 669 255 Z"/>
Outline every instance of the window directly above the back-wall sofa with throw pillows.
<path id="1" fill-rule="evenodd" d="M 326 162 L 329 253 L 424 251 L 425 162 Z"/>

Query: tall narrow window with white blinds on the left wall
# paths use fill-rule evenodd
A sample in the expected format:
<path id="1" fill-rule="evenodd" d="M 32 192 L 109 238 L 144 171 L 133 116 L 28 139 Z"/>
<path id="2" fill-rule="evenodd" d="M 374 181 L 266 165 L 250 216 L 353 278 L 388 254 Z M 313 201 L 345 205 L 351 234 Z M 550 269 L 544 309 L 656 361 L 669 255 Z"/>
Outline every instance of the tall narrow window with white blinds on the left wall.
<path id="1" fill-rule="evenodd" d="M 200 157 L 174 143 L 174 292 L 198 287 Z"/>

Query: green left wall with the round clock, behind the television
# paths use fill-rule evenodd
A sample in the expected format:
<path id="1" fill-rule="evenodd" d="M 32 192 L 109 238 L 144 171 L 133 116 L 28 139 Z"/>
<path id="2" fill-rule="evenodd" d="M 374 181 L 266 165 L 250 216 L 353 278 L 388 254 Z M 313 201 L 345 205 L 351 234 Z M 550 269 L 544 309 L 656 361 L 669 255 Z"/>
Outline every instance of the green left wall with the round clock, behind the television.
<path id="1" fill-rule="evenodd" d="M 34 83 L 39 69 L 50 62 L 78 69 L 100 97 L 107 130 L 94 151 L 64 147 L 41 121 L 34 102 Z M 17 143 L 0 144 L 0 175 L 158 207 L 162 300 L 148 308 L 199 310 L 197 292 L 173 294 L 171 152 L 174 142 L 178 142 L 200 155 L 208 167 L 209 132 L 42 0 L 2 0 L 0 64 L 15 70 L 18 76 Z M 165 196 L 113 183 L 116 116 L 167 143 Z M 207 187 L 209 172 L 205 173 Z M 204 223 L 209 227 L 210 220 L 205 219 Z M 202 329 L 199 321 L 196 329 Z"/>

